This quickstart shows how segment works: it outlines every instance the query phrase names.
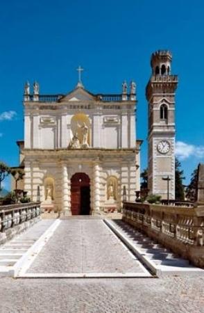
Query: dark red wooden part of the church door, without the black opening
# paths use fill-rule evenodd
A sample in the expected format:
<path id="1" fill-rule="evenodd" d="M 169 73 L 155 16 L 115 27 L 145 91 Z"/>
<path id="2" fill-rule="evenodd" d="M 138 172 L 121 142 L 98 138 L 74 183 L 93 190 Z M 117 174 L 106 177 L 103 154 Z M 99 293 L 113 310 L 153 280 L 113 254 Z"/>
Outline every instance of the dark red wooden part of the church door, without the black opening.
<path id="1" fill-rule="evenodd" d="M 81 191 L 82 187 L 90 186 L 90 177 L 83 172 L 77 172 L 71 177 L 71 214 L 82 213 Z M 90 204 L 89 204 L 90 205 Z"/>

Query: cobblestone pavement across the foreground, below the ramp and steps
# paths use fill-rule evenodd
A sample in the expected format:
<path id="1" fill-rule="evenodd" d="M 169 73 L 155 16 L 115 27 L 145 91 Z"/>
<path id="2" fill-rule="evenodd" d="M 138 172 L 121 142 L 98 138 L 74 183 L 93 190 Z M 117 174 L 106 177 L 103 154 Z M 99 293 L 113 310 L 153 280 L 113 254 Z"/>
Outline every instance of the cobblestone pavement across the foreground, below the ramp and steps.
<path id="1" fill-rule="evenodd" d="M 203 278 L 0 278 L 2 313 L 202 313 Z"/>

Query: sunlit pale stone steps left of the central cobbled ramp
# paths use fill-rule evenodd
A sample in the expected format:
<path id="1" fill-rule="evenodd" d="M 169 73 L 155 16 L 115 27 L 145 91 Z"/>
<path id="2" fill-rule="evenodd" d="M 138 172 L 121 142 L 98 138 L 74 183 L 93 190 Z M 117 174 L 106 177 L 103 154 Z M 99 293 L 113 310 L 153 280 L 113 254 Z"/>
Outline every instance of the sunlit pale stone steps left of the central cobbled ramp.
<path id="1" fill-rule="evenodd" d="M 53 220 L 40 220 L 30 229 L 0 246 L 0 274 L 10 275 L 15 264 L 40 238 Z"/>

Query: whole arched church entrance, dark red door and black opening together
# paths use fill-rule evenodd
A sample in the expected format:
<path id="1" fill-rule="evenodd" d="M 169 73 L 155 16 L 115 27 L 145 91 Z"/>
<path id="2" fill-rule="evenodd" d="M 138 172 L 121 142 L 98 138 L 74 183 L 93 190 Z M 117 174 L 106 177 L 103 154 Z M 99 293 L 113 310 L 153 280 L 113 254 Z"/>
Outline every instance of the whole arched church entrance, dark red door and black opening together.
<path id="1" fill-rule="evenodd" d="M 90 177 L 84 172 L 71 177 L 71 214 L 90 214 Z"/>

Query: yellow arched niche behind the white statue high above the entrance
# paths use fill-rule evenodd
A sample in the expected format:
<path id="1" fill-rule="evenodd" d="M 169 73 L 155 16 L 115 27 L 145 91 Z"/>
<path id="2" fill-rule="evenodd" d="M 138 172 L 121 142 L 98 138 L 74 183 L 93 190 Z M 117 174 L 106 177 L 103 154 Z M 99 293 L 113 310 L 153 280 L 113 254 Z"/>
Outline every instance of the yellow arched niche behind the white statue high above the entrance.
<path id="1" fill-rule="evenodd" d="M 71 140 L 77 134 L 80 145 L 83 144 L 84 129 L 87 127 L 87 144 L 91 145 L 91 124 L 90 119 L 84 113 L 76 113 L 71 118 Z"/>

